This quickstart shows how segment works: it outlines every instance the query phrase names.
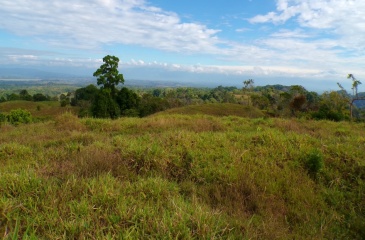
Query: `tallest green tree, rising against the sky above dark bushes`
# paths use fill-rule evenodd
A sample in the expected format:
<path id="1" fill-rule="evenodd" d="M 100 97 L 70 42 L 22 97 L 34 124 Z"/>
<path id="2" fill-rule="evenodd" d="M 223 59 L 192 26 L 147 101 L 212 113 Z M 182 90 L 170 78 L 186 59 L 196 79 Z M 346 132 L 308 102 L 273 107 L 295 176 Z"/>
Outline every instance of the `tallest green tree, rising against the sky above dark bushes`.
<path id="1" fill-rule="evenodd" d="M 124 83 L 123 74 L 118 71 L 119 58 L 107 55 L 103 58 L 104 64 L 97 69 L 93 76 L 97 77 L 97 84 L 102 85 L 102 89 L 109 90 L 112 97 L 116 96 L 116 86 Z"/>

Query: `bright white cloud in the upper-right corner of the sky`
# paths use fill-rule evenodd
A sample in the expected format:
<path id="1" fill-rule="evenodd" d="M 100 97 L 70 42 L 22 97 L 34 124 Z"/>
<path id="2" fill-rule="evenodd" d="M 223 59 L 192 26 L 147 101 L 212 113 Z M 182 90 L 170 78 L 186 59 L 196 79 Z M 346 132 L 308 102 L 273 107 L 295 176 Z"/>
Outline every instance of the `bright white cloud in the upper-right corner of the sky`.
<path id="1" fill-rule="evenodd" d="M 296 21 L 301 27 L 327 31 L 338 45 L 363 51 L 365 45 L 365 1 L 277 0 L 276 12 L 258 15 L 251 23 L 283 24 Z"/>

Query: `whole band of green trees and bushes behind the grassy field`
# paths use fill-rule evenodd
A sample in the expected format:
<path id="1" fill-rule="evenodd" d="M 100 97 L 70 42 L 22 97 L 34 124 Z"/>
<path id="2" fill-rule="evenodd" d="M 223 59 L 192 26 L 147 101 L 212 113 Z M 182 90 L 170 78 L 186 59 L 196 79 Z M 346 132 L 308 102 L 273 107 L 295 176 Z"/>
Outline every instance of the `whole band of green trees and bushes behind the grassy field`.
<path id="1" fill-rule="evenodd" d="M 243 81 L 241 89 L 218 86 L 209 88 L 119 88 L 124 84 L 123 74 L 118 71 L 119 58 L 105 56 L 103 64 L 94 72 L 97 86 L 89 85 L 71 93 L 61 94 L 61 106 L 71 104 L 80 108 L 80 117 L 118 118 L 144 117 L 168 108 L 204 103 L 238 103 L 252 105 L 272 117 L 304 117 L 308 119 L 348 120 L 363 119 L 365 108 L 357 108 L 356 101 L 364 100 L 358 93 L 361 84 L 352 74 L 354 94 L 341 90 L 318 94 L 303 86 L 267 85 L 255 86 L 253 79 Z M 29 95 L 26 90 L 8 95 L 10 100 L 47 101 L 42 94 Z"/>

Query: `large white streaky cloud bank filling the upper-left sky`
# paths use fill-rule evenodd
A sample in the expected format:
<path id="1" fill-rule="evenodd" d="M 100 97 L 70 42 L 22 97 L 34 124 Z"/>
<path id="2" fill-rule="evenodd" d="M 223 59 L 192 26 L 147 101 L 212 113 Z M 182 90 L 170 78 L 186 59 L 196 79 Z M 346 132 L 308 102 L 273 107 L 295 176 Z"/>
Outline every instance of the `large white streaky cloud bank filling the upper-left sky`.
<path id="1" fill-rule="evenodd" d="M 137 44 L 175 51 L 214 51 L 218 30 L 183 23 L 144 0 L 5 0 L 0 27 L 48 44 L 97 48 Z"/>

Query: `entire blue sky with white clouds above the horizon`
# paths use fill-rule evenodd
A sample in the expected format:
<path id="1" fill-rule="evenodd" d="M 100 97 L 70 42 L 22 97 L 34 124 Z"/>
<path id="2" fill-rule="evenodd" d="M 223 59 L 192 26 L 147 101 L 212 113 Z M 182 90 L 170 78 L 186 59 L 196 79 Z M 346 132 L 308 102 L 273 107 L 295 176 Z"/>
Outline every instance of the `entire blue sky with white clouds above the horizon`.
<path id="1" fill-rule="evenodd" d="M 364 0 L 2 0 L 0 67 L 127 81 L 351 88 L 365 79 Z M 359 91 L 362 90 L 361 85 Z"/>

